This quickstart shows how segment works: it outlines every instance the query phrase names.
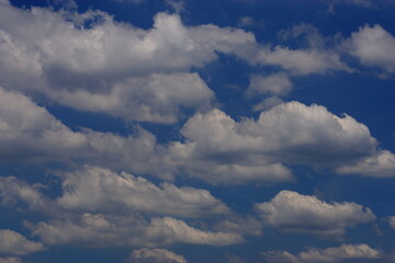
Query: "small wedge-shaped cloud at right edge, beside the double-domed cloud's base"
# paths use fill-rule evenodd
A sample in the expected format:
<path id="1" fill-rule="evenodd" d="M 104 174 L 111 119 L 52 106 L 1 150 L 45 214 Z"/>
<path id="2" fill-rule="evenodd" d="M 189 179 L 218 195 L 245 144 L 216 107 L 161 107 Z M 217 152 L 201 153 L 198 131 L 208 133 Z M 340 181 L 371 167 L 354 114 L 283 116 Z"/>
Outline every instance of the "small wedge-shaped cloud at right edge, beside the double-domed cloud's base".
<path id="1" fill-rule="evenodd" d="M 340 167 L 340 174 L 361 174 L 375 178 L 395 176 L 395 155 L 387 150 L 381 150 L 371 157 L 366 157 L 354 164 Z"/>

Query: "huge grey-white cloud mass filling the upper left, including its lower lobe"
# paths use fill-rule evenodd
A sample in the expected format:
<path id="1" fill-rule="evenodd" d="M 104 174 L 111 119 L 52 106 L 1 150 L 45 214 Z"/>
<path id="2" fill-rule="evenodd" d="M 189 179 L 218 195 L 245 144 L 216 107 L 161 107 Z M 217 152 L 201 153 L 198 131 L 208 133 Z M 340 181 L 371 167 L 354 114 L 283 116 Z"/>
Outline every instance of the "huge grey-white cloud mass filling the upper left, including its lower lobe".
<path id="1" fill-rule="evenodd" d="M 142 30 L 101 11 L 22 10 L 3 2 L 0 24 L 0 85 L 139 122 L 174 123 L 182 108 L 210 105 L 213 92 L 185 71 L 215 60 L 217 52 L 236 54 L 255 43 L 241 30 L 185 26 L 166 13 Z"/>

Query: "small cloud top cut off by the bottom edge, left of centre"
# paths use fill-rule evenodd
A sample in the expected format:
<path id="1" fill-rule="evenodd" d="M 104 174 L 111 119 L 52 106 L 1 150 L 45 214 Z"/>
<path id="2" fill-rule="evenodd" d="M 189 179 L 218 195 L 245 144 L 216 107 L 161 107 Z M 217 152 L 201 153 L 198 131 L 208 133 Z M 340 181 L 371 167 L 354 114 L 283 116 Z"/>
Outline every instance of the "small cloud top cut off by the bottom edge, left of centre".
<path id="1" fill-rule="evenodd" d="M 166 249 L 134 250 L 131 263 L 187 263 L 185 258 Z"/>

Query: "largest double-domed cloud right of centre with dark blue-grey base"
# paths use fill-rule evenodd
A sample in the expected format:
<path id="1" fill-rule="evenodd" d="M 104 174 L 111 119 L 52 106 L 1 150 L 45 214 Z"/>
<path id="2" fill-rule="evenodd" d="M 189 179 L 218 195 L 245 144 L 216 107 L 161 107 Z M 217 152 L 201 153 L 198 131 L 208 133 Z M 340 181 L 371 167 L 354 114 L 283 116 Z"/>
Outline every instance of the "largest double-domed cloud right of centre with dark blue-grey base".
<path id="1" fill-rule="evenodd" d="M 340 168 L 380 152 L 368 127 L 351 116 L 298 102 L 271 107 L 257 121 L 235 122 L 219 110 L 198 113 L 181 134 L 187 141 L 170 146 L 179 173 L 214 183 L 286 181 L 292 174 L 281 163 Z M 377 162 L 366 175 L 377 176 L 388 165 Z"/>

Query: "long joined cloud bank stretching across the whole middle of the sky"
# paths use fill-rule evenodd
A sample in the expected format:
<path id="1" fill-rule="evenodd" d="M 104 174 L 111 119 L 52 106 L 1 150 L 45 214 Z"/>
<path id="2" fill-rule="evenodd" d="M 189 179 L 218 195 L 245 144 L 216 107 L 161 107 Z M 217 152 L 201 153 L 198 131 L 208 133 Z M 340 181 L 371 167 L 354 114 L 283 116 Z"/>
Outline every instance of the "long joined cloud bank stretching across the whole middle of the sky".
<path id="1" fill-rule="evenodd" d="M 393 153 L 377 150 L 368 127 L 318 105 L 284 103 L 257 121 L 240 122 L 219 110 L 198 113 L 181 129 L 184 142 L 161 145 L 143 128 L 126 137 L 72 132 L 25 95 L 3 89 L 0 94 L 2 161 L 77 159 L 115 171 L 163 179 L 184 174 L 211 183 L 292 180 L 282 163 L 371 176 L 390 176 L 394 165 Z"/>

